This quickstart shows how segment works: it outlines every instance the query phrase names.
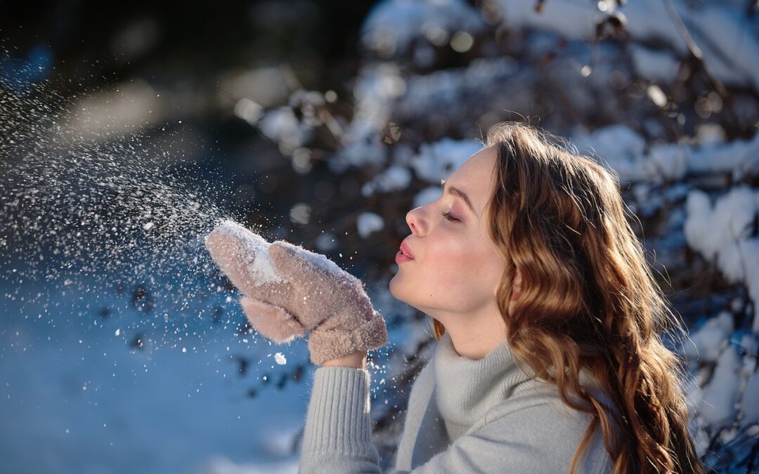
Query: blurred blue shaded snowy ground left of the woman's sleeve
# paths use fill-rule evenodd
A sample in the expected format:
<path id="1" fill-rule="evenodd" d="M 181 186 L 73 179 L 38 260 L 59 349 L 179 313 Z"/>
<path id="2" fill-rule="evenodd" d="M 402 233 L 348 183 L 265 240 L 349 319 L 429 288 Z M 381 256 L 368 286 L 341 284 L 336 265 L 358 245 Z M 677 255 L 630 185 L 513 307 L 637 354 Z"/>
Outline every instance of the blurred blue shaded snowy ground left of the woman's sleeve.
<path id="1" fill-rule="evenodd" d="M 220 325 L 138 350 L 128 344 L 134 331 L 124 330 L 124 322 L 144 318 L 136 309 L 101 320 L 77 291 L 52 290 L 44 299 L 60 306 L 45 310 L 32 299 L 38 291 L 37 284 L 20 289 L 23 311 L 18 299 L 2 303 L 0 471 L 296 472 L 290 444 L 304 419 L 310 372 L 283 390 L 260 380 L 278 376 L 277 352 L 302 359 L 302 344 L 254 344 Z M 250 359 L 245 375 L 233 356 Z M 254 385 L 266 388 L 250 398 Z"/>

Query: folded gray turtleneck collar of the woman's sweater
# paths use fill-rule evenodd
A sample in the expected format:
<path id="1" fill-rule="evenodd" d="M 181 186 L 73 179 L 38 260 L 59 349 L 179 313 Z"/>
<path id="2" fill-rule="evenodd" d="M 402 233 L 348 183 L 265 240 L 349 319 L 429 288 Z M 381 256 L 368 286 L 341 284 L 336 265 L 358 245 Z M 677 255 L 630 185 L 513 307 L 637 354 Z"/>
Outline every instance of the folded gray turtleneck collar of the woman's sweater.
<path id="1" fill-rule="evenodd" d="M 528 366 L 522 372 L 506 341 L 483 359 L 458 355 L 448 332 L 443 333 L 433 354 L 438 410 L 449 434 L 461 435 L 488 410 L 509 398 L 517 385 L 531 379 Z"/>

